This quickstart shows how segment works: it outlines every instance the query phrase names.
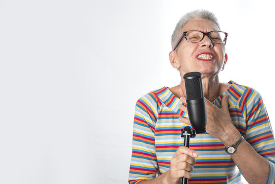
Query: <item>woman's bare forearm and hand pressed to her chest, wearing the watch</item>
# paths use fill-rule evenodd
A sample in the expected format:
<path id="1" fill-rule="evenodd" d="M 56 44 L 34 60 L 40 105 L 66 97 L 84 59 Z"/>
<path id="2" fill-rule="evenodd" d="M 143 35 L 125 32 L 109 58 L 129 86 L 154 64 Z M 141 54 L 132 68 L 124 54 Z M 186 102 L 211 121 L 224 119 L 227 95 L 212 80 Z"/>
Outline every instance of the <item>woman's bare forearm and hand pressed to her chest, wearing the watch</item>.
<path id="1" fill-rule="evenodd" d="M 181 98 L 182 101 L 185 101 Z M 223 97 L 221 109 L 206 100 L 207 106 L 207 132 L 217 137 L 225 146 L 234 144 L 239 140 L 241 134 L 232 124 L 232 120 L 228 109 L 228 96 Z M 184 111 L 187 111 L 185 106 L 180 106 Z M 190 124 L 188 119 L 180 119 L 186 124 Z M 252 122 L 257 121 L 257 118 L 251 118 Z M 253 125 L 252 125 L 253 127 Z M 273 140 L 274 142 L 274 140 Z M 273 147 L 274 152 L 274 147 Z M 253 146 L 247 141 L 243 141 L 237 148 L 236 152 L 231 154 L 232 159 L 238 166 L 240 172 L 249 183 L 266 183 L 269 175 L 270 161 L 255 151 Z M 271 181 L 268 183 L 272 183 Z"/>

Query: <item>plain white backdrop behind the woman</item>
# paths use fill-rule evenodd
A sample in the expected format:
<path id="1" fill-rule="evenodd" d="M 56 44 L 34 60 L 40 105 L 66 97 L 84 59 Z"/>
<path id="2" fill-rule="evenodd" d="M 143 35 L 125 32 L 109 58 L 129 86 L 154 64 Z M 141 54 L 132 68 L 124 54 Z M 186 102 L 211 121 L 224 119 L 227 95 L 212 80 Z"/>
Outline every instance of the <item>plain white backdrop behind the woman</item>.
<path id="1" fill-rule="evenodd" d="M 0 1 L 0 183 L 127 183 L 136 100 L 179 84 L 170 36 L 194 9 L 229 33 L 220 81 L 274 128 L 271 1 Z"/>

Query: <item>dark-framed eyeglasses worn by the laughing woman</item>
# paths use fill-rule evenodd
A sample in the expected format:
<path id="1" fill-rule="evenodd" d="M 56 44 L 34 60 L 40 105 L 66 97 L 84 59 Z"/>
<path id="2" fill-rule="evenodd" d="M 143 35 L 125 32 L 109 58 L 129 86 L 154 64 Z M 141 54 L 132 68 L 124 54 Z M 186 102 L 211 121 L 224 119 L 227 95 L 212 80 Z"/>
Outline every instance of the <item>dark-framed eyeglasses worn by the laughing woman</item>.
<path id="1" fill-rule="evenodd" d="M 174 46 L 174 50 L 178 47 L 179 43 L 181 42 L 182 38 L 185 37 L 185 39 L 190 43 L 197 43 L 204 39 L 204 37 L 208 36 L 209 39 L 214 43 L 224 43 L 224 45 L 227 42 L 227 36 L 228 34 L 223 31 L 210 31 L 208 33 L 204 33 L 201 31 L 185 31 L 183 32 L 182 36 Z"/>

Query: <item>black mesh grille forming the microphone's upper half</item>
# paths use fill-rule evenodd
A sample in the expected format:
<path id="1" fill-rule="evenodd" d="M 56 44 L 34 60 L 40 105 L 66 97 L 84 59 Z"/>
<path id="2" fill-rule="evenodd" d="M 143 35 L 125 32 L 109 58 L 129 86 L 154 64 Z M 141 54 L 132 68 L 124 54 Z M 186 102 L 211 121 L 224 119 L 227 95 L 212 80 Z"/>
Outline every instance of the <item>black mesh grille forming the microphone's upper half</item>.
<path id="1" fill-rule="evenodd" d="M 204 98 L 202 74 L 199 72 L 186 73 L 184 76 L 187 100 Z"/>

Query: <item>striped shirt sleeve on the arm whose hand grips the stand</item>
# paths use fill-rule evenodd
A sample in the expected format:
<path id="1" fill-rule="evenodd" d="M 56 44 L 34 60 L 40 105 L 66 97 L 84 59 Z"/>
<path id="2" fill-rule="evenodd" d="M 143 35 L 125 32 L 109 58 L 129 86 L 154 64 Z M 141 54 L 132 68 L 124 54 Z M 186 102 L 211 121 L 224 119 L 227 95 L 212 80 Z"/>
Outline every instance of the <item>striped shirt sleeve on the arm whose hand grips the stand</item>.
<path id="1" fill-rule="evenodd" d="M 130 184 L 154 178 L 158 172 L 154 134 L 157 113 L 157 102 L 152 95 L 145 95 L 137 101 L 128 179 Z"/>

